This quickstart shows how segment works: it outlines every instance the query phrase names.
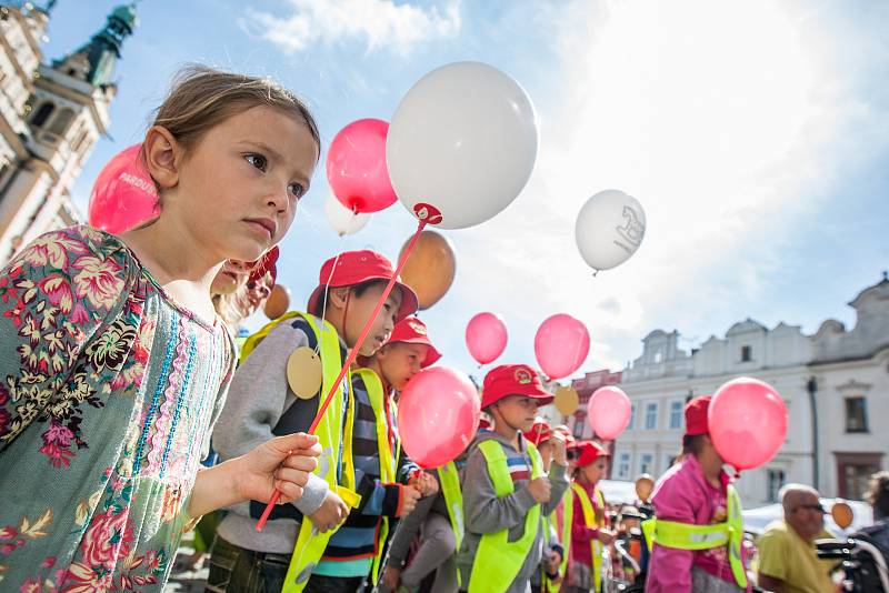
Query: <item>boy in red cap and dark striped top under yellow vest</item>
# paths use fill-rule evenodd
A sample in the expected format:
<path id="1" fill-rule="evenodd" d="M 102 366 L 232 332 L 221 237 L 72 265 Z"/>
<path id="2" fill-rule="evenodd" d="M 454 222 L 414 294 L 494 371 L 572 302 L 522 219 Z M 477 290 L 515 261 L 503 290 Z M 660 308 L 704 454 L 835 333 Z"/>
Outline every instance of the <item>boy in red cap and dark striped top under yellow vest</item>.
<path id="1" fill-rule="evenodd" d="M 420 496 L 438 492 L 438 483 L 401 452 L 396 429 L 394 390 L 401 390 L 441 354 L 429 341 L 426 324 L 409 316 L 363 369 L 352 373 L 354 422 L 352 456 L 360 504 L 328 543 L 307 590 L 353 591 L 356 577 L 379 577 L 390 521 L 411 513 Z"/>

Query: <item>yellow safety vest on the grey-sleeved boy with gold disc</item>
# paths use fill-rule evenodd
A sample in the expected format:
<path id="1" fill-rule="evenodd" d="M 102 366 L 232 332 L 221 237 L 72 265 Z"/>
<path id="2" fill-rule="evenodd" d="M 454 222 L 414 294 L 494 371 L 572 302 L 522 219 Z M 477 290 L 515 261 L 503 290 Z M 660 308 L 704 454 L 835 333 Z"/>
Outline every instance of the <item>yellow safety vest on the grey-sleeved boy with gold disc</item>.
<path id="1" fill-rule="evenodd" d="M 296 316 L 301 316 L 306 320 L 306 322 L 309 324 L 309 328 L 311 328 L 312 332 L 314 332 L 314 335 L 318 339 L 318 345 L 320 346 L 321 366 L 323 369 L 323 384 L 321 388 L 321 395 L 318 399 L 318 406 L 320 409 L 321 398 L 327 395 L 330 391 L 342 364 L 340 356 L 339 334 L 337 334 L 337 330 L 327 321 L 322 322 L 323 330 L 321 331 L 318 328 L 319 320 L 317 318 L 296 311 L 286 313 L 283 316 L 266 324 L 261 330 L 259 330 L 259 332 L 247 339 L 243 348 L 241 349 L 241 362 L 243 362 L 247 356 L 249 356 L 250 353 L 256 350 L 257 345 L 259 345 L 259 342 L 262 341 L 262 339 L 266 338 L 276 325 L 282 321 Z M 273 370 L 272 372 L 277 371 L 278 370 Z M 283 369 L 280 371 L 283 372 Z M 347 380 L 351 381 L 351 378 L 348 375 L 348 373 Z M 349 390 L 348 393 L 351 394 L 351 390 Z M 342 385 L 338 385 L 337 392 L 333 394 L 330 405 L 328 406 L 321 422 L 318 423 L 318 428 L 314 431 L 314 434 L 318 436 L 322 449 L 321 458 L 318 461 L 318 469 L 314 470 L 314 473 L 320 478 L 323 478 L 330 488 L 340 495 L 343 502 L 354 509 L 358 506 L 361 497 L 354 492 L 354 465 L 352 463 L 351 438 L 352 423 L 354 422 L 354 419 L 351 405 L 351 395 L 349 395 L 349 402 L 350 403 L 346 410 L 346 426 L 343 428 Z M 343 438 L 343 435 L 346 435 L 346 438 Z M 340 476 L 341 483 L 338 483 L 337 452 L 340 449 L 340 441 L 342 441 L 342 473 Z M 321 555 L 324 553 L 328 540 L 330 540 L 330 536 L 333 535 L 336 531 L 337 530 L 330 530 L 327 533 L 318 533 L 309 517 L 303 517 L 302 523 L 300 524 L 299 535 L 297 536 L 297 543 L 293 546 L 293 555 L 290 559 L 290 566 L 287 571 L 284 585 L 281 590 L 282 593 L 298 593 L 306 587 L 314 566 L 318 564 L 318 561 L 321 560 Z"/>

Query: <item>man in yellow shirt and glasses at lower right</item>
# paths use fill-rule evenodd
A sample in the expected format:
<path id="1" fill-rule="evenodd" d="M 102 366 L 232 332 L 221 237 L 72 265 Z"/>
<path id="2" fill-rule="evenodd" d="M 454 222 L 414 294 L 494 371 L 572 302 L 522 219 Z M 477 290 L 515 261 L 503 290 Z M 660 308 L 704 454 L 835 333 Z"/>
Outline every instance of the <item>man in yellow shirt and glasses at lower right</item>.
<path id="1" fill-rule="evenodd" d="M 833 537 L 825 530 L 825 509 L 818 491 L 802 484 L 781 489 L 783 520 L 759 537 L 759 586 L 776 593 L 833 593 L 835 562 L 818 560 L 815 541 Z"/>

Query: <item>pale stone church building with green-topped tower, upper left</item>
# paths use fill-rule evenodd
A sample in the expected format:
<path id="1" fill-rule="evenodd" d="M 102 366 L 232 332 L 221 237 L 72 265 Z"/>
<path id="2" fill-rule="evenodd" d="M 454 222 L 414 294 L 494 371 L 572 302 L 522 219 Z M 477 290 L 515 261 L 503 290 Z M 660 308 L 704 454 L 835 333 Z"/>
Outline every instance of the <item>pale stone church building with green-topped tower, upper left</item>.
<path id="1" fill-rule="evenodd" d="M 0 7 L 0 265 L 82 220 L 70 191 L 108 133 L 114 66 L 138 23 L 134 6 L 118 7 L 89 42 L 47 64 L 40 43 L 54 4 Z"/>

